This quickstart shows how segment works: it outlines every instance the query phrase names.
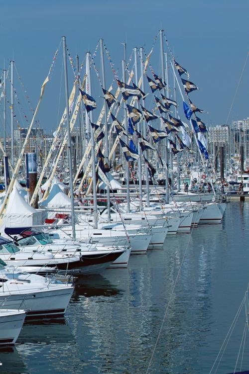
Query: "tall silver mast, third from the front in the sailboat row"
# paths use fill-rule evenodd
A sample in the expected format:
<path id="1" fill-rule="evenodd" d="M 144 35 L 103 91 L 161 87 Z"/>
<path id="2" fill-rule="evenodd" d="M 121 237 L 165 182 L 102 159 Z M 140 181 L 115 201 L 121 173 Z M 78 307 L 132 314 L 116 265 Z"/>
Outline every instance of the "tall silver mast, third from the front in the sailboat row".
<path id="1" fill-rule="evenodd" d="M 105 62 L 104 62 L 104 49 L 103 49 L 103 39 L 100 39 L 100 55 L 101 55 L 101 71 L 102 71 L 102 87 L 106 89 L 106 76 L 105 76 Z M 109 147 L 108 147 L 108 120 L 107 120 L 107 103 L 104 98 L 104 118 L 105 118 L 105 159 L 108 163 L 109 157 Z M 111 140 L 111 136 L 110 136 Z M 108 211 L 108 223 L 111 223 L 111 202 L 110 202 L 110 187 L 107 186 L 107 211 Z"/>

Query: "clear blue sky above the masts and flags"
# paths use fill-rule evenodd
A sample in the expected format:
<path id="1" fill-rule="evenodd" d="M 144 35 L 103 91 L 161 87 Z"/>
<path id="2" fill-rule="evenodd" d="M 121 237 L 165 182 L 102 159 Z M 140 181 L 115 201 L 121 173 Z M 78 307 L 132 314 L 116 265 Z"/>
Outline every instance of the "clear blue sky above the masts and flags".
<path id="1" fill-rule="evenodd" d="M 127 57 L 135 46 L 143 46 L 148 53 L 162 27 L 177 61 L 190 72 L 191 81 L 200 88 L 190 97 L 200 108 L 207 110 L 208 114 L 203 114 L 202 118 L 208 125 L 221 124 L 226 122 L 249 51 L 248 14 L 248 0 L 1 1 L 0 69 L 2 71 L 4 63 L 7 68 L 14 56 L 26 94 L 35 107 L 41 83 L 62 35 L 67 37 L 70 55 L 74 57 L 78 53 L 80 61 L 85 60 L 86 51 L 93 52 L 98 40 L 104 38 L 121 74 L 122 42 L 127 43 Z M 41 127 L 46 129 L 56 128 L 64 104 L 61 52 L 37 116 Z M 159 73 L 159 40 L 151 63 Z M 96 64 L 100 68 L 99 53 Z M 70 86 L 73 74 L 70 66 L 68 69 Z M 110 86 L 113 76 L 107 60 L 106 75 L 107 86 Z M 20 117 L 22 125 L 25 123 L 21 122 L 23 113 L 30 117 L 31 112 L 17 76 L 14 86 L 23 108 L 19 111 L 16 108 L 15 114 L 16 118 Z M 230 120 L 249 116 L 248 87 L 249 65 L 245 69 Z M 9 94 L 8 88 L 8 97 Z M 93 96 L 100 94 L 93 72 Z M 150 102 L 148 98 L 147 105 Z M 9 121 L 9 113 L 7 119 Z M 2 113 L 0 123 L 1 120 Z"/>

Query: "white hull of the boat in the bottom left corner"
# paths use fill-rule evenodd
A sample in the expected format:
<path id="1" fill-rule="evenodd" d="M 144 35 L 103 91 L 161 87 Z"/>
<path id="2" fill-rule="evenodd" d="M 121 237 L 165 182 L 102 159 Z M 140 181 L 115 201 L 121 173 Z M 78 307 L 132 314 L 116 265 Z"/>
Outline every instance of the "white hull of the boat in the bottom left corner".
<path id="1" fill-rule="evenodd" d="M 0 346 L 15 344 L 25 317 L 25 310 L 0 310 Z"/>

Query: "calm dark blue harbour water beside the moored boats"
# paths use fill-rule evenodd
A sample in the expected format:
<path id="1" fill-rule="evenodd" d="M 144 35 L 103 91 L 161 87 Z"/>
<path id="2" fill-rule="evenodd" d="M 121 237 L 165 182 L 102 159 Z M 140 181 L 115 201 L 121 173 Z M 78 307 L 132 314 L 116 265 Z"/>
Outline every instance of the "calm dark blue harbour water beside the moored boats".
<path id="1" fill-rule="evenodd" d="M 132 256 L 128 269 L 82 278 L 65 319 L 25 324 L 16 347 L 0 351 L 0 373 L 146 373 L 187 244 L 148 373 L 209 373 L 249 282 L 247 202 L 228 204 L 220 225 Z M 234 372 L 244 326 L 243 309 L 217 374 Z"/>

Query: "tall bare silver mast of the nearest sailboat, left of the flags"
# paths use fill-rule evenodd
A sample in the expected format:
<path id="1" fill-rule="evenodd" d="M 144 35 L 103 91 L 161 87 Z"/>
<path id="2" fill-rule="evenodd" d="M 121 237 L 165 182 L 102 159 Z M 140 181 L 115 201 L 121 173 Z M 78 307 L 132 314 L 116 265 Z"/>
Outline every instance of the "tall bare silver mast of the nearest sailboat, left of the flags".
<path id="1" fill-rule="evenodd" d="M 69 112 L 69 95 L 68 95 L 68 77 L 67 77 L 67 47 L 66 37 L 62 37 L 63 41 L 63 59 L 64 59 L 64 80 L 65 80 L 65 98 L 67 112 L 67 147 L 68 147 L 68 165 L 69 165 L 69 186 L 71 198 L 71 215 L 72 215 L 72 237 L 75 239 L 75 214 L 74 214 L 74 188 L 73 188 L 73 166 L 72 166 L 72 148 L 71 148 L 71 132 L 70 132 L 70 112 Z"/>

